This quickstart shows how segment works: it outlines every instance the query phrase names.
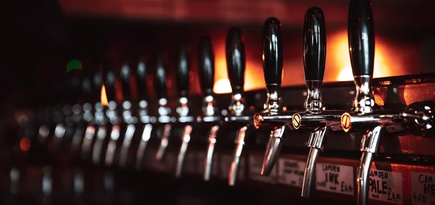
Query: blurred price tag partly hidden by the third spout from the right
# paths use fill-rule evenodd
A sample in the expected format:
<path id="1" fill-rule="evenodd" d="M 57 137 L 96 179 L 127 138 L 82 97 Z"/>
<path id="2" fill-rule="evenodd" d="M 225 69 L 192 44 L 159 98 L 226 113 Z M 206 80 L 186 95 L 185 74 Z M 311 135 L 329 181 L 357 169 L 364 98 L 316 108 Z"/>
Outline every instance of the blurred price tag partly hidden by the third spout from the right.
<path id="1" fill-rule="evenodd" d="M 269 176 L 261 175 L 261 167 L 263 166 L 263 156 L 261 155 L 249 155 L 249 179 L 253 181 L 261 181 L 264 183 L 277 183 L 278 172 L 275 165 Z"/>

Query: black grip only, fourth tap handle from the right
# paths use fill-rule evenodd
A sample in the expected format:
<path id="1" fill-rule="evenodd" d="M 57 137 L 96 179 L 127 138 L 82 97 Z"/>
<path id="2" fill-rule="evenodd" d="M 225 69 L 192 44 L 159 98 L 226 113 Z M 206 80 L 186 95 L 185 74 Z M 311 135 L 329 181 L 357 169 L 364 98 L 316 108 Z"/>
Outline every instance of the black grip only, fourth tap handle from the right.
<path id="1" fill-rule="evenodd" d="M 245 84 L 246 55 L 243 43 L 242 30 L 230 28 L 227 33 L 225 45 L 227 58 L 227 71 L 233 93 L 243 92 Z"/>

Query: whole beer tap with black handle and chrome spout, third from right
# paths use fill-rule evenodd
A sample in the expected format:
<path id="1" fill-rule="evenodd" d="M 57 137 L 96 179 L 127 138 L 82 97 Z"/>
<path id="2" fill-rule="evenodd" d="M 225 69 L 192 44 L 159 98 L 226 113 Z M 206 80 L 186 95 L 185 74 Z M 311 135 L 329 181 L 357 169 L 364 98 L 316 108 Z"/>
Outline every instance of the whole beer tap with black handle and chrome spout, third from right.
<path id="1" fill-rule="evenodd" d="M 286 130 L 286 120 L 291 119 L 292 117 L 291 115 L 281 115 L 281 41 L 280 21 L 275 17 L 266 19 L 263 26 L 262 58 L 267 99 L 264 104 L 264 111 L 255 114 L 253 117 L 253 124 L 257 129 L 267 126 L 273 128 L 273 131 L 270 132 L 261 168 L 261 174 L 266 176 L 272 171 L 276 160 L 278 159 L 278 154 L 281 151 L 282 140 L 284 140 L 284 131 Z"/>

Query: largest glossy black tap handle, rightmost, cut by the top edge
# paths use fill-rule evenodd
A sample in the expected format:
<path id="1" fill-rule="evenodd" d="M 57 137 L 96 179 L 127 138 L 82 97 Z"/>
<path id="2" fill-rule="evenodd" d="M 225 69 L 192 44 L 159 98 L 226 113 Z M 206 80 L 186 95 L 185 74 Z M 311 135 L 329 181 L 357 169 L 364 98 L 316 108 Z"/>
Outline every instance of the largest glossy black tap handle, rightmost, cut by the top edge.
<path id="1" fill-rule="evenodd" d="M 354 76 L 373 76 L 375 36 L 372 4 L 369 0 L 352 0 L 349 5 L 349 54 Z"/>

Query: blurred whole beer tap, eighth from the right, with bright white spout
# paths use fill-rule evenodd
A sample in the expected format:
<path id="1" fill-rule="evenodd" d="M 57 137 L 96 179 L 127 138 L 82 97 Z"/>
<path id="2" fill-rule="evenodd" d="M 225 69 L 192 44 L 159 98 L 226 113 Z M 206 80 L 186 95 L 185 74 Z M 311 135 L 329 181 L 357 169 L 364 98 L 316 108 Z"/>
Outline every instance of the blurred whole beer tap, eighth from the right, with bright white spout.
<path id="1" fill-rule="evenodd" d="M 142 135 L 139 142 L 139 147 L 136 153 L 136 169 L 142 168 L 143 154 L 147 148 L 148 141 L 151 138 L 153 126 L 150 124 L 150 114 L 148 110 L 148 95 L 147 95 L 147 64 L 143 60 L 139 60 L 137 64 L 136 87 L 137 98 L 139 101 L 139 119 L 144 124 Z"/>

